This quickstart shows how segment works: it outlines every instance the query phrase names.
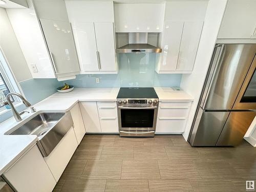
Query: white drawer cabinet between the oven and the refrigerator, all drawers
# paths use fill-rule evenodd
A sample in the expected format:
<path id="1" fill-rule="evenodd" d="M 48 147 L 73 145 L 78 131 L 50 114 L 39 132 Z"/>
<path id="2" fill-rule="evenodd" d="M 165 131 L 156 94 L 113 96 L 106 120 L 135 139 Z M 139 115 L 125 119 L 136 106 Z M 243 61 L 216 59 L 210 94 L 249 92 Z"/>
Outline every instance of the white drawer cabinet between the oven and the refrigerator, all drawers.
<path id="1" fill-rule="evenodd" d="M 156 133 L 184 132 L 190 105 L 190 101 L 160 101 Z"/>

